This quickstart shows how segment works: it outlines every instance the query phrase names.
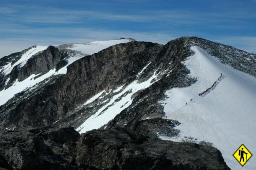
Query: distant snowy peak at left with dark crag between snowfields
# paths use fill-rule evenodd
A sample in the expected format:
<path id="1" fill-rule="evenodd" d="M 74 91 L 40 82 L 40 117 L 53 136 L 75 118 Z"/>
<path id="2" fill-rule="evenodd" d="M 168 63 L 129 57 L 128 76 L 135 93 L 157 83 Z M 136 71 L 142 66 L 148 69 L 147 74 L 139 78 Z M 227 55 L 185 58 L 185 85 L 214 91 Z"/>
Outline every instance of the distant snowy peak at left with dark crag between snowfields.
<path id="1" fill-rule="evenodd" d="M 22 52 L 6 56 L 0 59 L 0 105 L 17 93 L 46 81 L 49 77 L 66 74 L 68 65 L 86 55 L 131 41 L 134 40 L 72 43 L 56 47 L 35 45 Z"/>

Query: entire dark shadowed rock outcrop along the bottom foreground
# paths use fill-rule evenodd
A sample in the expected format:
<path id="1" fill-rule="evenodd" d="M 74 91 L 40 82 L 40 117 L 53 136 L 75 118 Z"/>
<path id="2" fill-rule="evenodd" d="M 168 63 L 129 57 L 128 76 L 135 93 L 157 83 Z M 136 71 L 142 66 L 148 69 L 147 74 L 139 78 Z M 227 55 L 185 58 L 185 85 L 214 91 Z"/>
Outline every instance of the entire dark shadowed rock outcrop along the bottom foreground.
<path id="1" fill-rule="evenodd" d="M 80 134 L 72 127 L 0 132 L 0 169 L 7 170 L 228 170 L 220 151 L 164 141 L 124 128 Z"/>

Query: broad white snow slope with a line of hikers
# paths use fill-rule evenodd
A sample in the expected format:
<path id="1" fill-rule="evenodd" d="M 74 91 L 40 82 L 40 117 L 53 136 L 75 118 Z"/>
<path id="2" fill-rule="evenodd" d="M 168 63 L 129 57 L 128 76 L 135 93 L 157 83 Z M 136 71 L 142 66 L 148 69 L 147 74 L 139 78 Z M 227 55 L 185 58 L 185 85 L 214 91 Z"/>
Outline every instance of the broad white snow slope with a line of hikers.
<path id="1" fill-rule="evenodd" d="M 191 49 L 195 55 L 185 64 L 198 81 L 190 87 L 167 91 L 164 105 L 167 118 L 182 123 L 176 127 L 181 134 L 178 138 L 160 138 L 184 141 L 186 136 L 192 136 L 194 141 L 212 142 L 227 165 L 240 170 L 242 167 L 232 156 L 236 149 L 243 143 L 252 154 L 256 153 L 256 78 L 220 63 L 197 46 Z M 198 96 L 221 73 L 214 89 Z M 256 157 L 252 156 L 243 169 L 255 170 Z"/>

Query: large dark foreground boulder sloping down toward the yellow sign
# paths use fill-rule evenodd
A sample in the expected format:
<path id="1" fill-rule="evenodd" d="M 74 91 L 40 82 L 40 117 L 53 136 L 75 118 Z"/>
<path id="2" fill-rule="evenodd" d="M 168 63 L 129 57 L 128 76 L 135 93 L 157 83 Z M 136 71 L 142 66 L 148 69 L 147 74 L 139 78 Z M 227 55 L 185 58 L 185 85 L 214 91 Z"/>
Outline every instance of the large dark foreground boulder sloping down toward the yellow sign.
<path id="1" fill-rule="evenodd" d="M 83 169 L 229 169 L 216 148 L 148 138 L 122 128 L 82 134 L 78 148 L 76 163 Z"/>

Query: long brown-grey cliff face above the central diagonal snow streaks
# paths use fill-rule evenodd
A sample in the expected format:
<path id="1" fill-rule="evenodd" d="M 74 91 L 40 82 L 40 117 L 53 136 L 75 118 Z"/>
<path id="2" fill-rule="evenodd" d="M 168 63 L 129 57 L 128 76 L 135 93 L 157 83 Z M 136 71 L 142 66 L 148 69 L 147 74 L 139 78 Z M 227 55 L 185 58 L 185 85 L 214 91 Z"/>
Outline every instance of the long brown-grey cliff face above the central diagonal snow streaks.
<path id="1" fill-rule="evenodd" d="M 141 63 L 148 61 L 149 55 L 143 55 L 143 52 L 156 45 L 146 42 L 118 44 L 74 62 L 68 67 L 67 74 L 54 84 L 16 105 L 2 125 L 51 125 L 98 91 L 130 81 L 143 67 Z"/>

